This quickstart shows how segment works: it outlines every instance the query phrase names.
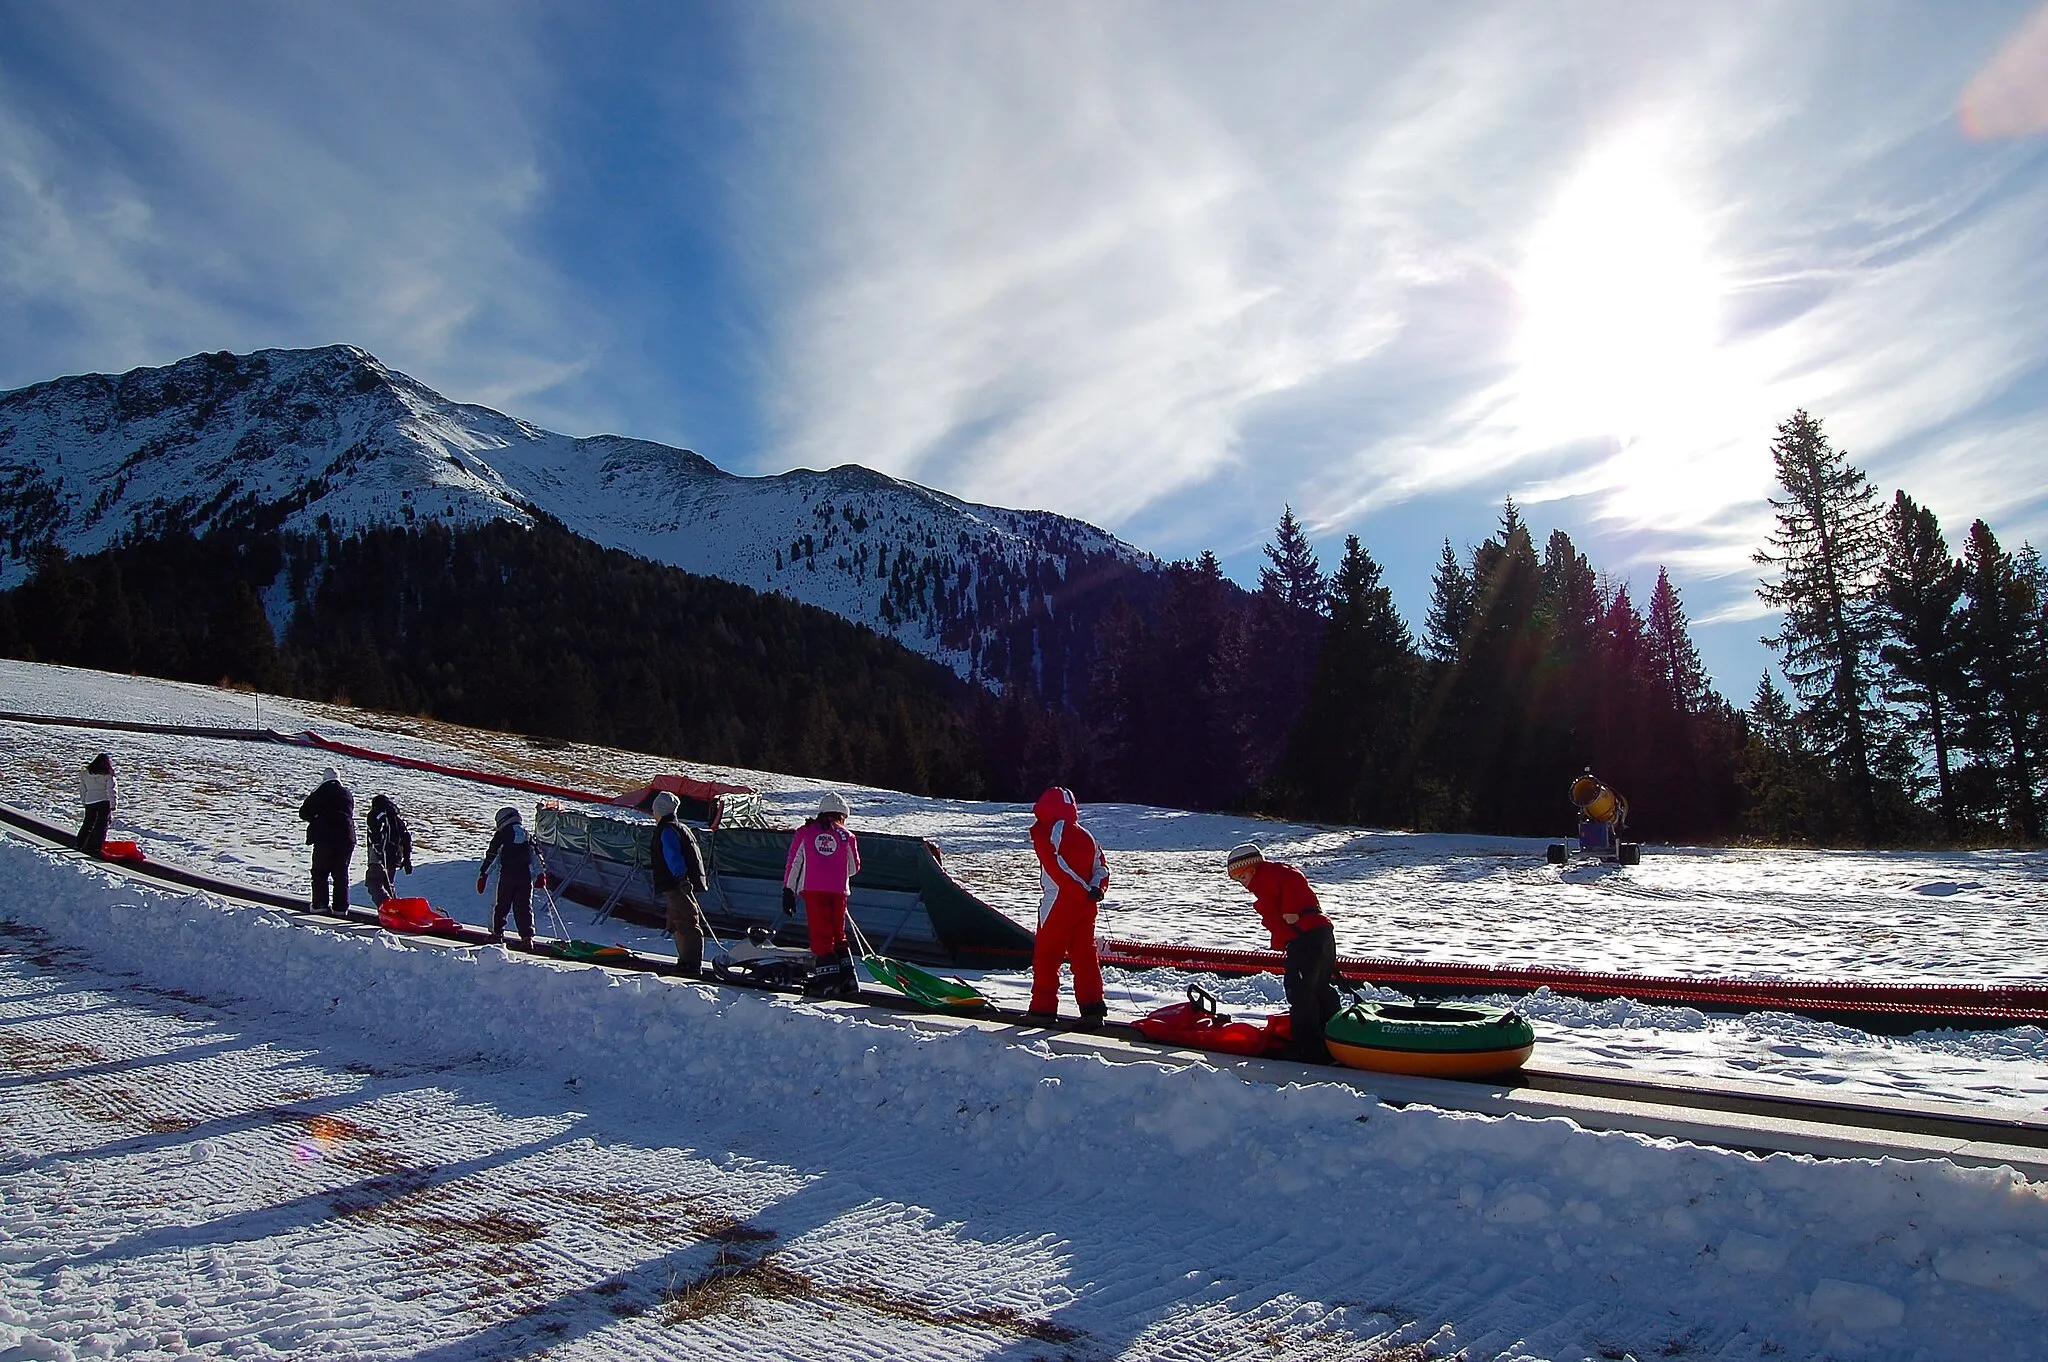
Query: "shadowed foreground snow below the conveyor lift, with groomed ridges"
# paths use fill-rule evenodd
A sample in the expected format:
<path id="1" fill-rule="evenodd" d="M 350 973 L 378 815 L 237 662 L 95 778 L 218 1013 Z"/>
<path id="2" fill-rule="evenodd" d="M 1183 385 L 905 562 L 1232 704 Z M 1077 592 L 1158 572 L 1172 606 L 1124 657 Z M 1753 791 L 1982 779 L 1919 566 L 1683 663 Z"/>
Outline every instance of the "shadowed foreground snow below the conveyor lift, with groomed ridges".
<path id="1" fill-rule="evenodd" d="M 2017 1358 L 2048 1311 L 2048 1200 L 2007 1172 L 1110 1065 L 313 926 L 18 842 L 0 885 L 12 1356 Z M 94 1016 L 119 1022 L 102 1059 L 51 1049 Z M 180 1071 L 176 1034 L 229 1071 Z M 78 1116 L 94 1073 L 131 1092 L 127 1124 Z M 133 1098 L 143 1075 L 154 1102 Z M 301 1092 L 291 1110 L 328 1098 L 342 1124 L 209 1108 Z M 449 1145 L 365 1163 L 383 1145 L 350 1129 Z M 563 1186 L 694 1198 L 698 1221 L 774 1233 L 774 1255 L 602 1233 Z M 649 1215 L 680 1223 L 678 1204 Z M 469 1266 L 446 1272 L 502 1286 L 463 1309 L 418 1251 L 457 1229 L 438 1253 Z M 715 1301 L 664 1323 L 653 1278 L 741 1247 L 752 1323 Z M 647 1309 L 608 1313 L 612 1280 Z M 563 1333 L 520 1333 L 530 1319 Z"/>

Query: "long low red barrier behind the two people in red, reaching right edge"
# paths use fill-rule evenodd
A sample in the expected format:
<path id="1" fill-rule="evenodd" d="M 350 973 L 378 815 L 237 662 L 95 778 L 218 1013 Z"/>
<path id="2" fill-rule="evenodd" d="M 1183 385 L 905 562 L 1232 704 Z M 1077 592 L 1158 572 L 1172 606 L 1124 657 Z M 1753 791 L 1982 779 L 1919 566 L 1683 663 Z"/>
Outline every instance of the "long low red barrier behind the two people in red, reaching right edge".
<path id="1" fill-rule="evenodd" d="M 1219 975 L 1278 975 L 1278 950 L 1219 950 L 1159 942 L 1106 940 L 1098 954 L 1122 969 L 1188 969 Z M 1518 965 L 1438 965 L 1339 956 L 1337 975 L 1358 983 L 1419 991 L 1532 993 L 1548 987 L 1573 997 L 1636 997 L 1694 1008 L 1778 1008 L 1786 1012 L 1868 1012 L 2048 1024 L 2048 985 L 2034 983 L 1860 983 L 1847 979 L 1686 979 Z"/>

